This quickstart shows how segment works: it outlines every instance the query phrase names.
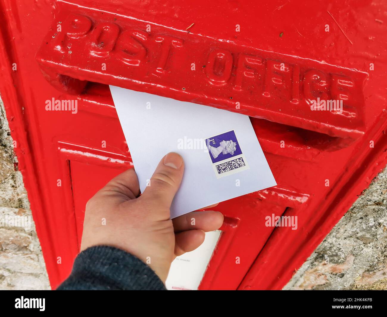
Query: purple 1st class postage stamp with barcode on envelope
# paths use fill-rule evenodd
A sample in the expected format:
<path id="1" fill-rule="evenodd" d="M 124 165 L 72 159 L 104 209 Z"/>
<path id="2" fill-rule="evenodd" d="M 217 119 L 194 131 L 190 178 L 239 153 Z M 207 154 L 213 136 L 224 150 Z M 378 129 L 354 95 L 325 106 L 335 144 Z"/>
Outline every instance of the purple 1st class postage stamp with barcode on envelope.
<path id="1" fill-rule="evenodd" d="M 234 130 L 209 137 L 205 144 L 217 178 L 249 168 Z"/>

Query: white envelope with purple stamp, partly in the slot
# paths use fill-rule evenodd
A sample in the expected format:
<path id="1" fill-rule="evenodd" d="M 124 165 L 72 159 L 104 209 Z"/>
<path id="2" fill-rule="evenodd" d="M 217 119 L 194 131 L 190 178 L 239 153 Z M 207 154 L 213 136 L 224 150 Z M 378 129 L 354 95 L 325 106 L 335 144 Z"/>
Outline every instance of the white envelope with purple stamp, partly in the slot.
<path id="1" fill-rule="evenodd" d="M 276 185 L 248 116 L 115 86 L 110 91 L 141 192 L 165 154 L 184 159 L 171 218 Z"/>

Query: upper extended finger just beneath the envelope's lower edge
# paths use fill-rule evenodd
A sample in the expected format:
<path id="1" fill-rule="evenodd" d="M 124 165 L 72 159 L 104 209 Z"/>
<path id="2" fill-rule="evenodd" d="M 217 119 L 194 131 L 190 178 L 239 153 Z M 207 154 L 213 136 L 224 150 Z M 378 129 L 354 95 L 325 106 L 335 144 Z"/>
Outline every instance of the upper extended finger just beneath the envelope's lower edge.
<path id="1" fill-rule="evenodd" d="M 200 229 L 204 232 L 219 229 L 223 224 L 223 214 L 218 211 L 192 211 L 172 219 L 175 232 Z"/>

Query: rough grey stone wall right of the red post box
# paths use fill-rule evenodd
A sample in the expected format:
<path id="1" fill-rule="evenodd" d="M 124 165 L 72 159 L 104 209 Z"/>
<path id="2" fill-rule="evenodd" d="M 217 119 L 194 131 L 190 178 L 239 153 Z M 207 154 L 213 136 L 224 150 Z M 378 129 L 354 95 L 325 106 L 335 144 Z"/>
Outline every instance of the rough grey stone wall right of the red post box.
<path id="1" fill-rule="evenodd" d="M 387 290 L 387 168 L 284 290 Z"/>

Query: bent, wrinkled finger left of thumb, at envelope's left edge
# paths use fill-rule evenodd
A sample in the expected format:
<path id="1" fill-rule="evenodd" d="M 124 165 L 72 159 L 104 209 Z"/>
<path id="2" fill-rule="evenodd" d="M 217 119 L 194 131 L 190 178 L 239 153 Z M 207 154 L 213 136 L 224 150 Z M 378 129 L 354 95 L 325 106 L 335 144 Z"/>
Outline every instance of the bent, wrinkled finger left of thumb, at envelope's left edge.
<path id="1" fill-rule="evenodd" d="M 115 195 L 122 199 L 135 199 L 140 195 L 139 180 L 134 168 L 129 168 L 110 180 L 96 195 Z"/>

